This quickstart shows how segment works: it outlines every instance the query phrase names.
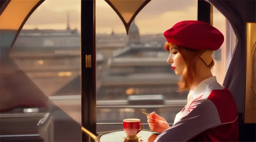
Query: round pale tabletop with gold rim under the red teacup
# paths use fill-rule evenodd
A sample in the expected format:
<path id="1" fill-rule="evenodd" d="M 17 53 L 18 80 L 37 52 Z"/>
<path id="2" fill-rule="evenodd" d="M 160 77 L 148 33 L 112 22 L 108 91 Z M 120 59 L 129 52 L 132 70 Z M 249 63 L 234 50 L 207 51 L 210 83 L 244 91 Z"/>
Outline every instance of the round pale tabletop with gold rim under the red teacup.
<path id="1" fill-rule="evenodd" d="M 146 142 L 151 135 L 156 135 L 155 132 L 150 130 L 142 130 L 138 133 L 139 140 L 143 140 Z M 126 137 L 126 133 L 124 130 L 110 131 L 106 133 L 102 133 L 97 136 L 96 142 L 123 142 L 124 137 Z"/>

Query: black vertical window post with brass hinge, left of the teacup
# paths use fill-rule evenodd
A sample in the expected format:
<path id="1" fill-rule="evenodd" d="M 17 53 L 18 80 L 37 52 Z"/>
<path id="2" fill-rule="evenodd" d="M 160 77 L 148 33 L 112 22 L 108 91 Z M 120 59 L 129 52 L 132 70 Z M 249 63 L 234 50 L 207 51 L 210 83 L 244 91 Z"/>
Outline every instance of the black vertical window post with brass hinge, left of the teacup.
<path id="1" fill-rule="evenodd" d="M 82 126 L 96 135 L 95 2 L 81 0 L 81 115 Z M 82 141 L 90 138 L 82 133 Z"/>

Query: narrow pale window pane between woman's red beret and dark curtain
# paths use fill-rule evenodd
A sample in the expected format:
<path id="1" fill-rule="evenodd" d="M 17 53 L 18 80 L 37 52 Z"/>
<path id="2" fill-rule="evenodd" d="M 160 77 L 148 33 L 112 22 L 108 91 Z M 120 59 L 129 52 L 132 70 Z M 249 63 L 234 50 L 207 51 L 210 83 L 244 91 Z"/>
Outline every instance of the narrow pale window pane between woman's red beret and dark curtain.
<path id="1" fill-rule="evenodd" d="M 215 7 L 213 7 L 213 26 L 222 32 L 225 39 L 220 49 L 213 53 L 215 65 L 212 73 L 217 76 L 218 82 L 222 84 L 235 49 L 236 36 L 229 21 Z"/>

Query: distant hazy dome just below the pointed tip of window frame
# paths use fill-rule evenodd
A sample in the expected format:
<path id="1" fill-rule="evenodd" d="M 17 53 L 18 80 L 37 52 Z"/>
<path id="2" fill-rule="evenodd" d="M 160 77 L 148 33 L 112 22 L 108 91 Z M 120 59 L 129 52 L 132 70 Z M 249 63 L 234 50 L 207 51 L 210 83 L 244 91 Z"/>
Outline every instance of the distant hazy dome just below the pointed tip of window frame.
<path id="1" fill-rule="evenodd" d="M 137 25 L 135 24 L 135 20 L 133 20 L 128 33 L 128 45 L 129 44 L 141 44 L 140 43 L 140 35 L 139 35 L 139 29 Z"/>

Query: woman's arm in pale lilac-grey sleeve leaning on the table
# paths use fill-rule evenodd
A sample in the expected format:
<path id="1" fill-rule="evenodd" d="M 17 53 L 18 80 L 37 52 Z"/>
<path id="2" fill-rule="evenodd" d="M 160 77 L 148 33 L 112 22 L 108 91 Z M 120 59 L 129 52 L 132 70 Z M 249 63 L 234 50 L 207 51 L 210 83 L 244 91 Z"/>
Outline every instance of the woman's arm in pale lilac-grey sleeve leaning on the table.
<path id="1" fill-rule="evenodd" d="M 221 124 L 218 110 L 208 99 L 197 99 L 187 114 L 159 135 L 155 142 L 186 142 L 199 133 Z"/>

